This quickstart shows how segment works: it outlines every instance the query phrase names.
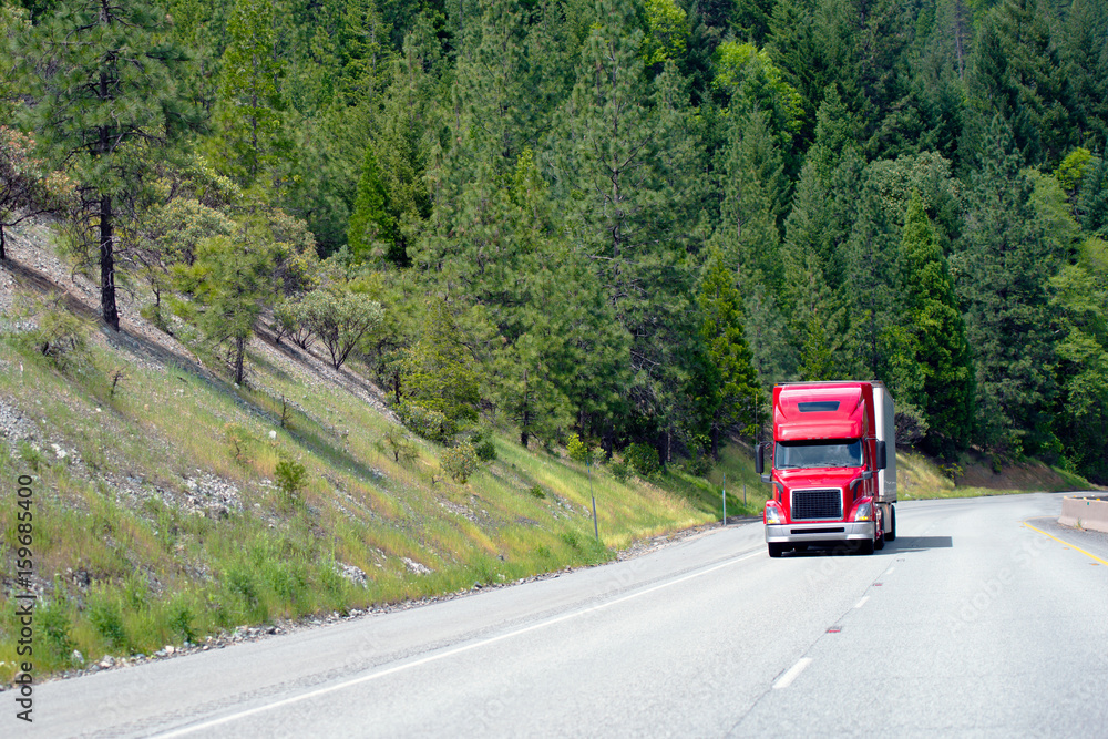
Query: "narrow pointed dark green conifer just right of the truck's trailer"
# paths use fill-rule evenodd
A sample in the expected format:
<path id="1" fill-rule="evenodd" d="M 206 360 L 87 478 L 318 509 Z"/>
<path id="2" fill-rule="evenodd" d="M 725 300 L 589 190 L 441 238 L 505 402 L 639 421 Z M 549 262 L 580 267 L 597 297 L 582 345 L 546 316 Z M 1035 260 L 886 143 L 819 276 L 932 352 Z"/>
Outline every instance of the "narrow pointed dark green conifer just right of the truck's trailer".
<path id="1" fill-rule="evenodd" d="M 954 280 L 917 194 L 907 206 L 902 248 L 905 325 L 923 376 L 919 393 L 904 400 L 924 413 L 930 428 L 925 449 L 948 455 L 973 438 L 973 361 Z"/>

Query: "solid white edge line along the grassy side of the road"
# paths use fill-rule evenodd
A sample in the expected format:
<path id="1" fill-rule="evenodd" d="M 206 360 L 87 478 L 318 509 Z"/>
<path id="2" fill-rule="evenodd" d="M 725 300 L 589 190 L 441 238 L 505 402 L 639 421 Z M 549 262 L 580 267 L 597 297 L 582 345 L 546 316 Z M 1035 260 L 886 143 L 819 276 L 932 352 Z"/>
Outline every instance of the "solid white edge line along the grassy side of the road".
<path id="1" fill-rule="evenodd" d="M 166 731 L 165 733 L 157 733 L 157 735 L 153 735 L 153 736 L 158 737 L 160 739 L 170 739 L 171 737 L 183 737 L 185 735 L 193 733 L 194 731 L 202 731 L 204 729 L 211 729 L 211 728 L 214 728 L 214 727 L 217 727 L 217 726 L 222 726 L 224 723 L 229 723 L 230 721 L 235 721 L 235 720 L 238 720 L 240 718 L 246 718 L 247 716 L 254 716 L 255 714 L 261 714 L 264 711 L 271 710 L 274 708 L 281 708 L 283 706 L 290 706 L 293 704 L 298 704 L 298 702 L 300 702 L 302 700 L 308 700 L 309 698 L 318 698 L 319 696 L 325 696 L 328 692 L 335 692 L 336 690 L 341 690 L 343 688 L 349 688 L 351 686 L 360 685 L 362 682 L 370 682 L 370 681 L 376 680 L 378 678 L 382 678 L 382 677 L 386 677 L 388 675 L 392 675 L 394 673 L 400 673 L 400 671 L 409 669 L 411 667 L 419 667 L 421 665 L 427 665 L 428 663 L 433 663 L 433 661 L 438 661 L 440 659 L 444 659 L 447 657 L 452 657 L 454 655 L 462 654 L 463 651 L 470 651 L 471 649 L 476 649 L 478 647 L 483 647 L 483 646 L 488 646 L 490 644 L 495 644 L 496 642 L 503 642 L 504 639 L 509 639 L 509 638 L 511 638 L 513 636 L 519 636 L 521 634 L 526 634 L 529 632 L 534 632 L 536 629 L 544 628 L 546 626 L 553 626 L 554 624 L 558 624 L 561 622 L 568 620 L 571 618 L 576 618 L 577 616 L 584 616 L 585 614 L 596 613 L 597 610 L 603 610 L 604 608 L 608 608 L 611 606 L 614 606 L 614 605 L 617 605 L 617 604 L 620 604 L 620 603 L 626 603 L 627 601 L 632 601 L 632 599 L 637 598 L 639 596 L 648 595 L 648 594 L 654 593 L 656 591 L 660 591 L 663 588 L 669 587 L 670 585 L 679 585 L 680 583 L 685 583 L 685 582 L 694 579 L 696 577 L 700 577 L 702 575 L 707 575 L 709 573 L 716 572 L 717 569 L 722 569 L 724 567 L 727 567 L 729 565 L 735 564 L 736 562 L 742 562 L 743 560 L 749 560 L 751 557 L 759 556 L 760 554 L 761 554 L 761 547 L 759 547 L 755 552 L 750 552 L 749 554 L 745 554 L 742 556 L 735 557 L 733 560 L 728 560 L 727 562 L 722 562 L 722 563 L 716 565 L 715 567 L 709 567 L 707 569 L 701 569 L 701 571 L 695 572 L 695 573 L 693 573 L 690 575 L 686 575 L 685 577 L 680 577 L 678 579 L 669 581 L 668 583 L 661 583 L 659 585 L 655 585 L 654 587 L 648 587 L 645 591 L 638 591 L 636 593 L 632 593 L 630 595 L 625 595 L 624 597 L 616 598 L 615 601 L 608 601 L 607 603 L 601 603 L 601 604 L 595 605 L 595 606 L 589 606 L 588 608 L 585 608 L 583 610 L 574 610 L 573 613 L 570 613 L 570 614 L 563 614 L 562 616 L 557 616 L 557 617 L 551 618 L 548 620 L 540 622 L 537 624 L 532 624 L 531 626 L 525 626 L 525 627 L 516 629 L 514 632 L 507 632 L 506 634 L 501 634 L 500 636 L 493 636 L 493 637 L 490 637 L 488 639 L 483 639 L 481 642 L 473 642 L 471 644 L 462 645 L 460 647 L 454 647 L 453 649 L 448 649 L 447 651 L 440 651 L 440 653 L 437 653 L 437 654 L 433 654 L 433 655 L 429 655 L 427 657 L 423 657 L 421 659 L 417 659 L 414 661 L 404 663 L 402 665 L 396 665 L 394 667 L 390 667 L 388 669 L 383 669 L 383 670 L 381 670 L 379 673 L 372 673 L 370 675 L 362 675 L 361 677 L 356 677 L 356 678 L 353 678 L 351 680 L 347 680 L 346 682 L 339 682 L 337 685 L 330 685 L 330 686 L 327 686 L 326 688 L 318 688 L 316 690 L 311 690 L 309 692 L 304 692 L 304 694 L 300 694 L 298 696 L 293 696 L 290 698 L 285 698 L 283 700 L 277 700 L 277 701 L 271 702 L 271 704 L 266 704 L 264 706 L 257 706 L 255 708 L 250 708 L 250 709 L 245 710 L 245 711 L 239 711 L 237 714 L 232 714 L 229 716 L 223 716 L 220 718 L 211 719 L 208 721 L 202 721 L 201 723 L 194 723 L 192 726 L 182 727 L 179 729 L 173 729 L 171 731 Z M 803 660 L 801 660 L 801 661 L 803 661 Z M 809 661 L 811 661 L 811 660 L 809 660 Z M 793 669 L 797 669 L 797 668 L 793 667 Z M 803 669 L 803 668 L 801 668 L 801 669 Z M 781 678 L 781 679 L 784 679 L 784 678 Z M 774 686 L 774 687 L 777 687 L 777 686 Z"/>

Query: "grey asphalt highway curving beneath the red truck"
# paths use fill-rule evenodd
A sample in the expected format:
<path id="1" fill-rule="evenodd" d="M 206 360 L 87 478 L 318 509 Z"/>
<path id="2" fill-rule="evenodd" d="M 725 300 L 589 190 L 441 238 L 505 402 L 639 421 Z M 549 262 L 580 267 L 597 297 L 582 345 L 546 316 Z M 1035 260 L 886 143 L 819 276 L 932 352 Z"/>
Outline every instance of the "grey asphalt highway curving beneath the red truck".
<path id="1" fill-rule="evenodd" d="M 760 523 L 729 526 L 41 685 L 16 736 L 1104 737 L 1108 535 L 1058 526 L 1060 510 L 902 502 L 872 556 L 770 560 Z"/>

